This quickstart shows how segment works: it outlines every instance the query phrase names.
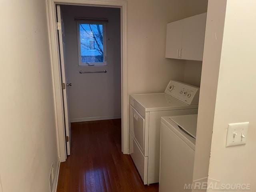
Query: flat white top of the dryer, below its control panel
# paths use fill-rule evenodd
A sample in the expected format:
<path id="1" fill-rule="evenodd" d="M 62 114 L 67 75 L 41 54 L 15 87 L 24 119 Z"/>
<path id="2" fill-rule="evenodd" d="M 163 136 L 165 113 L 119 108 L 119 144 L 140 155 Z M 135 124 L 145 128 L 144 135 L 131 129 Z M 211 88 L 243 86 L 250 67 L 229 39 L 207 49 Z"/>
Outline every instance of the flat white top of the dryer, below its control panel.
<path id="1" fill-rule="evenodd" d="M 198 105 L 185 104 L 166 93 L 134 94 L 131 99 L 145 108 L 146 112 L 198 108 Z"/>

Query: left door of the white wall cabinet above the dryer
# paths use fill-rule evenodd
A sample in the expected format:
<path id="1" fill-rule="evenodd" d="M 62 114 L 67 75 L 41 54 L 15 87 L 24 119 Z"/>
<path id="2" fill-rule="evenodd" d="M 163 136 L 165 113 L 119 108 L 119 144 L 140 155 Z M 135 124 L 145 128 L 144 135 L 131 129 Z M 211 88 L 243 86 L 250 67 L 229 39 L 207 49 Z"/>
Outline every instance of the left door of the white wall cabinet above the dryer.
<path id="1" fill-rule="evenodd" d="M 167 24 L 166 31 L 166 58 L 179 59 L 179 49 L 182 40 L 182 20 Z"/>

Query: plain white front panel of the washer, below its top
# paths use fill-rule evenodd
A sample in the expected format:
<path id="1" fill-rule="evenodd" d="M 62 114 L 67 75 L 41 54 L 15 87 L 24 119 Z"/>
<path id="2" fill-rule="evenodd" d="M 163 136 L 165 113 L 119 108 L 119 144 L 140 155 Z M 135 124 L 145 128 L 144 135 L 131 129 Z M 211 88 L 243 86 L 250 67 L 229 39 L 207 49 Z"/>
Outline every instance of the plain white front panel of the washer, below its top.
<path id="1" fill-rule="evenodd" d="M 165 124 L 161 124 L 159 192 L 191 192 L 184 184 L 193 180 L 194 150 Z"/>

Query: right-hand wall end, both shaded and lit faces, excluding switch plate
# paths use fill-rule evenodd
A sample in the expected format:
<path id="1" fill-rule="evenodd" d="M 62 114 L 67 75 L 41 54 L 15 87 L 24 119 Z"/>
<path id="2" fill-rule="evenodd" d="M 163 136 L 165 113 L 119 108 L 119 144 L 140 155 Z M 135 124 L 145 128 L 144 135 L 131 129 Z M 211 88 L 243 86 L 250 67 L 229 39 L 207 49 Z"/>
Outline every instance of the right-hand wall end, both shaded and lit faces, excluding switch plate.
<path id="1" fill-rule="evenodd" d="M 256 190 L 255 9 L 253 0 L 209 0 L 194 164 L 194 179 L 250 184 L 247 191 Z M 247 143 L 226 147 L 235 122 L 250 122 Z"/>

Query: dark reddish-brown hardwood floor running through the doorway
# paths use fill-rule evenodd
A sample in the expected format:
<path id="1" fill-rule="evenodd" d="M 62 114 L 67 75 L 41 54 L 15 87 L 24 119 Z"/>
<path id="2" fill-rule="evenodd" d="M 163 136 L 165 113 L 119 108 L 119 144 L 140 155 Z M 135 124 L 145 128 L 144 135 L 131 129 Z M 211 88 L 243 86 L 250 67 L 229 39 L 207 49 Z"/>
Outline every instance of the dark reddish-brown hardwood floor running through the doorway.
<path id="1" fill-rule="evenodd" d="M 60 164 L 57 192 L 158 192 L 145 186 L 121 152 L 121 120 L 72 123 L 71 155 Z"/>

